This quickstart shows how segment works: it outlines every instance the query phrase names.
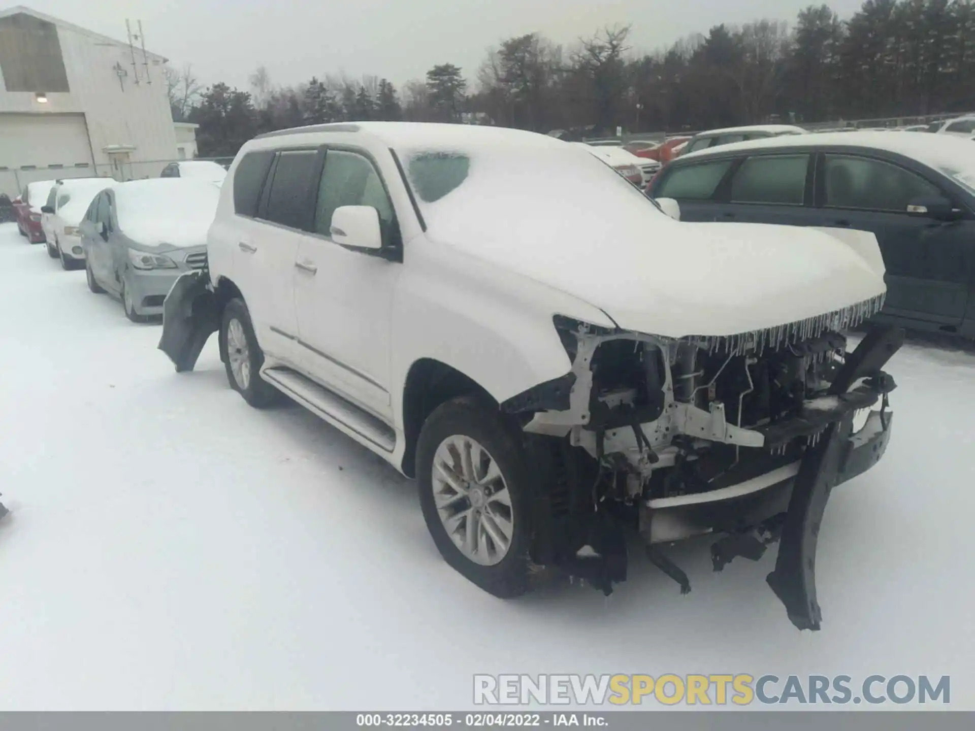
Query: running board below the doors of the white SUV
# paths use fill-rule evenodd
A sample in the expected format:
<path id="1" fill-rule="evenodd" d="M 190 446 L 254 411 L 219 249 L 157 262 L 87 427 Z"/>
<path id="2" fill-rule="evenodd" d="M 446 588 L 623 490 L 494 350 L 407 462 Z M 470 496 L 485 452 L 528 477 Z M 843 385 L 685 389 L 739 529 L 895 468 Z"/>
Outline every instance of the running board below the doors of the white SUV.
<path id="1" fill-rule="evenodd" d="M 263 368 L 260 375 L 332 426 L 350 433 L 349 436 L 370 442 L 383 451 L 392 452 L 396 448 L 396 433 L 389 425 L 297 371 L 279 366 Z"/>

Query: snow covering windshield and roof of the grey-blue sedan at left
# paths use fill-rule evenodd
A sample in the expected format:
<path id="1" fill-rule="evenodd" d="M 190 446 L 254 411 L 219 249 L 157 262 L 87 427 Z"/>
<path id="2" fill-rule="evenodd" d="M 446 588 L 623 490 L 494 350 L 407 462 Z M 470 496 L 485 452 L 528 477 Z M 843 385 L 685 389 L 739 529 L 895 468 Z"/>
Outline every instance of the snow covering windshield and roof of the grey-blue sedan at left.
<path id="1" fill-rule="evenodd" d="M 220 197 L 213 181 L 192 177 L 133 180 L 112 192 L 122 233 L 147 247 L 206 244 Z"/>

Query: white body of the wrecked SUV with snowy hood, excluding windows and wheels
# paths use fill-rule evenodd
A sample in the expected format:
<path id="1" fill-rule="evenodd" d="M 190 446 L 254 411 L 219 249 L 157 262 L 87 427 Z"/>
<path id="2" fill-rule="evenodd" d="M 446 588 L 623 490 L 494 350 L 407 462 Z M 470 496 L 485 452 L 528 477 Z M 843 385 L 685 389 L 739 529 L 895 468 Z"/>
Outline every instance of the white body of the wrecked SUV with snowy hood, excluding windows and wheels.
<path id="1" fill-rule="evenodd" d="M 884 291 L 882 273 L 835 236 L 683 223 L 563 141 L 461 128 L 365 123 L 355 132 L 254 139 L 230 168 L 209 234 L 212 279 L 241 289 L 269 361 L 295 367 L 386 421 L 397 444 L 392 454 L 378 453 L 397 467 L 404 388 L 410 368 L 425 359 L 459 370 L 503 402 L 570 370 L 555 315 L 656 335 L 725 335 L 816 316 Z M 232 179 L 244 154 L 330 143 L 375 161 L 402 231 L 402 262 L 234 213 Z M 406 161 L 410 150 L 427 145 L 471 150 L 476 159 L 469 182 L 433 204 L 419 203 L 424 231 L 389 149 Z M 581 188 L 590 205 L 569 197 L 556 206 L 565 186 L 558 195 L 526 194 L 518 178 L 533 183 L 531 170 L 504 169 L 526 151 L 575 173 L 569 188 Z M 559 177 L 545 165 L 549 181 Z M 486 187 L 480 173 L 489 182 L 499 170 L 502 179 Z M 243 253 L 242 241 L 257 251 Z"/>

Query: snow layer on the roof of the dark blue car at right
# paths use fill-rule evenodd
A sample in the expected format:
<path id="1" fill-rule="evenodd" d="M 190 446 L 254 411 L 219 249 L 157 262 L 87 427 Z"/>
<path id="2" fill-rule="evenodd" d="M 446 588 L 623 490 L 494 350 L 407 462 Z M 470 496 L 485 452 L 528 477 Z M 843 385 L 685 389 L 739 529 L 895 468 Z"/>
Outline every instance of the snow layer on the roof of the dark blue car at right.
<path id="1" fill-rule="evenodd" d="M 931 168 L 975 173 L 975 141 L 955 135 L 928 135 L 919 132 L 852 132 L 815 133 L 795 136 L 765 137 L 747 142 L 732 142 L 720 147 L 689 152 L 682 160 L 723 155 L 737 150 L 778 147 L 867 147 L 917 160 Z"/>

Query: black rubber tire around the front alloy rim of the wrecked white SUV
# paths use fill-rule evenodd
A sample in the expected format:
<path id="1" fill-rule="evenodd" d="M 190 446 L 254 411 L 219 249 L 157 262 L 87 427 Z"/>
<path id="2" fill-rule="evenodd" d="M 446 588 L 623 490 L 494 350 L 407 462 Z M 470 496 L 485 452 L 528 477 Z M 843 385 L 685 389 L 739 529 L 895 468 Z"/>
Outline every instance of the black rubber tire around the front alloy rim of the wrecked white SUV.
<path id="1" fill-rule="evenodd" d="M 434 456 L 441 443 L 462 436 L 481 444 L 497 463 L 508 488 L 514 521 L 511 544 L 504 558 L 482 565 L 467 558 L 448 536 L 434 501 Z M 469 581 L 500 598 L 521 596 L 531 589 L 528 551 L 532 526 L 529 509 L 530 471 L 517 427 L 507 423 L 497 407 L 475 397 L 458 397 L 441 404 L 427 417 L 416 444 L 416 479 L 427 529 L 448 564 Z"/>

